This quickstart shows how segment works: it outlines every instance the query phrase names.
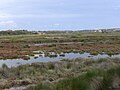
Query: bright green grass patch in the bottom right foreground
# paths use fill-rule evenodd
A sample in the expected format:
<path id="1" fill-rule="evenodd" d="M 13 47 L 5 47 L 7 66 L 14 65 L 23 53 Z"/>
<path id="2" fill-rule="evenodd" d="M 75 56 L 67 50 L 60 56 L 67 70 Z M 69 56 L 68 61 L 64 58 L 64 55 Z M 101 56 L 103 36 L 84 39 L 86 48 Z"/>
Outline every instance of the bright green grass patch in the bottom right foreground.
<path id="1" fill-rule="evenodd" d="M 40 84 L 28 90 L 109 90 L 112 87 L 112 81 L 115 76 L 120 77 L 120 66 L 113 67 L 107 71 L 93 69 L 78 77 L 61 80 L 52 87 Z"/>

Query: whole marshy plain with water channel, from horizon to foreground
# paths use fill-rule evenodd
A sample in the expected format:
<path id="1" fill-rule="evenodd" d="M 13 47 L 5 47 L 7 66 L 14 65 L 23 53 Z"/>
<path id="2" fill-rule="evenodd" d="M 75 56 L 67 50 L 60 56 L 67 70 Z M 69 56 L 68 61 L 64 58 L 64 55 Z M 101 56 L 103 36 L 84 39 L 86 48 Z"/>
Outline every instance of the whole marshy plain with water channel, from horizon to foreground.
<path id="1" fill-rule="evenodd" d="M 119 31 L 0 36 L 0 89 L 119 90 L 119 85 Z"/>

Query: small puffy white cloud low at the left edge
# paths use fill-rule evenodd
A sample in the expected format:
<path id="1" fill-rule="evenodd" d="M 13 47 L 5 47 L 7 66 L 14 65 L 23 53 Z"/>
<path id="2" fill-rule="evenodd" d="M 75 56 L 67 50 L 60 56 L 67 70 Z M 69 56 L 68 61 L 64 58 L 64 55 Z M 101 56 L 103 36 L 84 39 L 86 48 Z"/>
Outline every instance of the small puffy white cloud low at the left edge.
<path id="1" fill-rule="evenodd" d="M 9 20 L 9 21 L 1 21 L 0 22 L 0 27 L 1 28 L 7 28 L 7 29 L 12 29 L 12 28 L 15 28 L 17 27 L 17 24 L 12 21 L 12 20 Z"/>

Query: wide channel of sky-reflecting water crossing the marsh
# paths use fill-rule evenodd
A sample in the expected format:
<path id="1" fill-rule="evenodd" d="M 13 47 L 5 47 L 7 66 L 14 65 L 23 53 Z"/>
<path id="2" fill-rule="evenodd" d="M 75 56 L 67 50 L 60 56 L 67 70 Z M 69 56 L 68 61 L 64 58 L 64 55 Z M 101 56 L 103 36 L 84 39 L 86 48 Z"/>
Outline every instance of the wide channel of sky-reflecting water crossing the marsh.
<path id="1" fill-rule="evenodd" d="M 92 59 L 98 59 L 98 58 L 120 58 L 120 54 L 118 55 L 112 55 L 109 56 L 107 54 L 98 54 L 98 55 L 90 55 L 90 53 L 65 53 L 65 56 L 60 56 L 58 55 L 57 57 L 50 58 L 50 57 L 45 57 L 44 54 L 36 54 L 34 58 L 31 57 L 29 60 L 23 60 L 23 59 L 8 59 L 8 60 L 0 60 L 0 67 L 2 67 L 3 64 L 6 64 L 8 67 L 16 67 L 18 65 L 23 65 L 23 64 L 32 64 L 35 62 L 53 62 L 53 61 L 60 61 L 63 59 L 75 59 L 75 58 L 92 58 Z"/>

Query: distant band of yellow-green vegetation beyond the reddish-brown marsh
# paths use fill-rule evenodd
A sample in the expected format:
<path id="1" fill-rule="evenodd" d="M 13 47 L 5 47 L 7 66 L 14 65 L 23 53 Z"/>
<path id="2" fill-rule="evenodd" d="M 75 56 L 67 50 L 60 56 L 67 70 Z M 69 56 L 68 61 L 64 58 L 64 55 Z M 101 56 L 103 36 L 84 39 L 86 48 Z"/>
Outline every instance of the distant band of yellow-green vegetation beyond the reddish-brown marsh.
<path id="1" fill-rule="evenodd" d="M 51 43 L 51 42 L 84 42 L 84 43 L 119 43 L 120 32 L 109 32 L 109 33 L 93 33 L 93 32 L 73 32 L 73 33 L 48 33 L 45 34 L 34 34 L 26 30 L 17 31 L 1 31 L 11 32 L 16 34 L 6 34 L 0 36 L 0 41 L 3 42 L 32 42 L 32 43 Z"/>

